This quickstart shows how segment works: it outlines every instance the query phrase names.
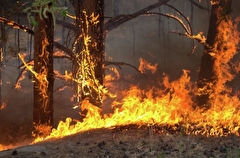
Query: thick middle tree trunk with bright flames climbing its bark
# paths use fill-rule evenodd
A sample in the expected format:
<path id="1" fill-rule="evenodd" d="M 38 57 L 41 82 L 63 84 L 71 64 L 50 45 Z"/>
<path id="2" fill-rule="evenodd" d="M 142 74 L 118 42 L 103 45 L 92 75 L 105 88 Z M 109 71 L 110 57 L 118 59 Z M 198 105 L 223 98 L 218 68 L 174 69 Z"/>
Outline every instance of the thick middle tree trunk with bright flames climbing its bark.
<path id="1" fill-rule="evenodd" d="M 101 106 L 101 94 L 97 89 L 103 84 L 104 1 L 81 0 L 72 1 L 72 4 L 75 7 L 78 27 L 73 48 L 73 76 L 77 80 L 77 102 L 88 98 L 94 105 Z M 91 82 L 92 85 L 83 85 L 84 81 Z"/>

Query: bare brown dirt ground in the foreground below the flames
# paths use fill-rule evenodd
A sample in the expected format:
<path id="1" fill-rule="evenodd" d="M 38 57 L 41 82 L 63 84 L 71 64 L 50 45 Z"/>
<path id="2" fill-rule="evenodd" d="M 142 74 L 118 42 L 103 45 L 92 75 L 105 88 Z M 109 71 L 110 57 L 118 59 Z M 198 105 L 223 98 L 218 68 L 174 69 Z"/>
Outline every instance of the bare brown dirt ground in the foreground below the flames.
<path id="1" fill-rule="evenodd" d="M 0 158 L 236 158 L 240 138 L 184 135 L 154 127 L 117 127 L 0 152 Z"/>

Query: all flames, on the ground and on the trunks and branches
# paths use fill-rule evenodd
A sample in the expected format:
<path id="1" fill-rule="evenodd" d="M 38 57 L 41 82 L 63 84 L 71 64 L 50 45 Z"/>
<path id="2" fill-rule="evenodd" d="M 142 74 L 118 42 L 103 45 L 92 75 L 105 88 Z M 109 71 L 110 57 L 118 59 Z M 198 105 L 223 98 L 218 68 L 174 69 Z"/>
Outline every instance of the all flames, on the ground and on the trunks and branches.
<path id="1" fill-rule="evenodd" d="M 85 21 L 90 21 L 94 24 L 99 22 L 97 20 L 99 18 L 98 15 L 92 14 L 91 17 L 88 17 L 85 11 L 83 13 L 86 18 Z M 92 19 L 92 21 L 87 18 Z M 58 74 L 57 71 L 55 72 L 55 76 L 61 76 L 63 79 L 75 82 L 75 98 L 77 104 L 79 104 L 79 110 L 87 111 L 87 113 L 82 121 L 68 117 L 65 121 L 60 121 L 57 128 L 53 129 L 51 129 L 51 126 L 45 125 L 34 126 L 42 134 L 35 138 L 32 144 L 50 139 L 61 139 L 91 129 L 112 129 L 132 124 L 139 127 L 171 126 L 180 129 L 180 132 L 186 135 L 221 137 L 232 134 L 240 136 L 240 92 L 239 90 L 233 91 L 227 85 L 228 82 L 234 79 L 234 74 L 239 73 L 239 65 L 231 63 L 230 66 L 229 64 L 238 51 L 239 32 L 236 31 L 236 27 L 237 24 L 232 21 L 222 21 L 217 28 L 221 34 L 216 37 L 218 42 L 213 47 L 206 45 L 205 37 L 201 36 L 199 38 L 201 40 L 204 39 L 205 48 L 211 47 L 210 53 L 204 53 L 209 53 L 215 60 L 213 67 L 216 79 L 214 78 L 213 82 L 208 82 L 204 87 L 199 88 L 196 86 L 196 83 L 191 81 L 190 71 L 185 69 L 182 76 L 173 81 L 164 74 L 161 79 L 155 77 L 154 85 L 140 88 L 141 86 L 138 83 L 137 85 L 130 85 L 127 90 L 119 92 L 120 94 L 115 97 L 121 98 L 121 100 L 111 98 L 114 100 L 111 103 L 113 113 L 103 114 L 101 107 L 94 105 L 90 97 L 96 97 L 97 100 L 103 101 L 104 104 L 104 99 L 109 99 L 104 95 L 114 96 L 112 94 L 118 92 L 119 87 L 110 82 L 120 80 L 120 73 L 116 68 L 108 69 L 114 73 L 114 75 L 104 76 L 105 86 L 107 88 L 110 87 L 108 91 L 96 78 L 94 72 L 96 65 L 94 65 L 94 58 L 90 54 L 89 46 L 92 39 L 88 35 L 90 31 L 87 24 L 87 27 L 85 30 L 81 30 L 82 34 L 79 36 L 79 39 L 83 38 L 85 43 L 82 50 L 78 51 L 74 56 L 77 64 L 77 66 L 75 65 L 75 70 L 73 70 L 75 72 L 68 73 L 66 71 L 66 74 L 63 76 Z M 186 36 L 188 37 L 188 35 Z M 192 35 L 191 37 L 197 38 Z M 189 38 L 191 37 L 189 36 Z M 76 41 L 79 39 L 76 39 Z M 94 44 L 91 45 L 92 47 L 95 47 Z M 42 52 L 42 56 L 44 56 L 44 52 Z M 24 62 L 21 55 L 19 55 L 19 58 L 25 67 L 33 73 L 37 81 L 40 82 L 39 89 L 41 87 L 46 88 L 48 86 L 47 69 L 43 69 L 43 72 L 38 74 L 33 70 L 32 65 Z M 152 75 L 157 75 L 157 67 L 158 64 L 148 63 L 143 58 L 139 59 L 138 71 L 142 74 L 151 72 Z M 17 85 L 17 87 L 20 88 L 20 85 Z M 207 108 L 197 105 L 195 98 L 197 95 L 204 93 L 211 94 L 209 96 L 210 106 L 207 106 Z M 46 91 L 42 91 L 42 95 L 43 98 L 48 100 Z M 82 97 L 83 95 L 84 97 Z M 45 108 L 47 107 L 46 105 L 42 105 L 44 111 L 48 111 Z M 4 109 L 4 107 L 4 104 L 0 106 L 0 110 Z M 161 134 L 161 131 L 156 132 Z M 12 146 L 0 144 L 0 151 L 8 148 L 12 148 Z"/>

